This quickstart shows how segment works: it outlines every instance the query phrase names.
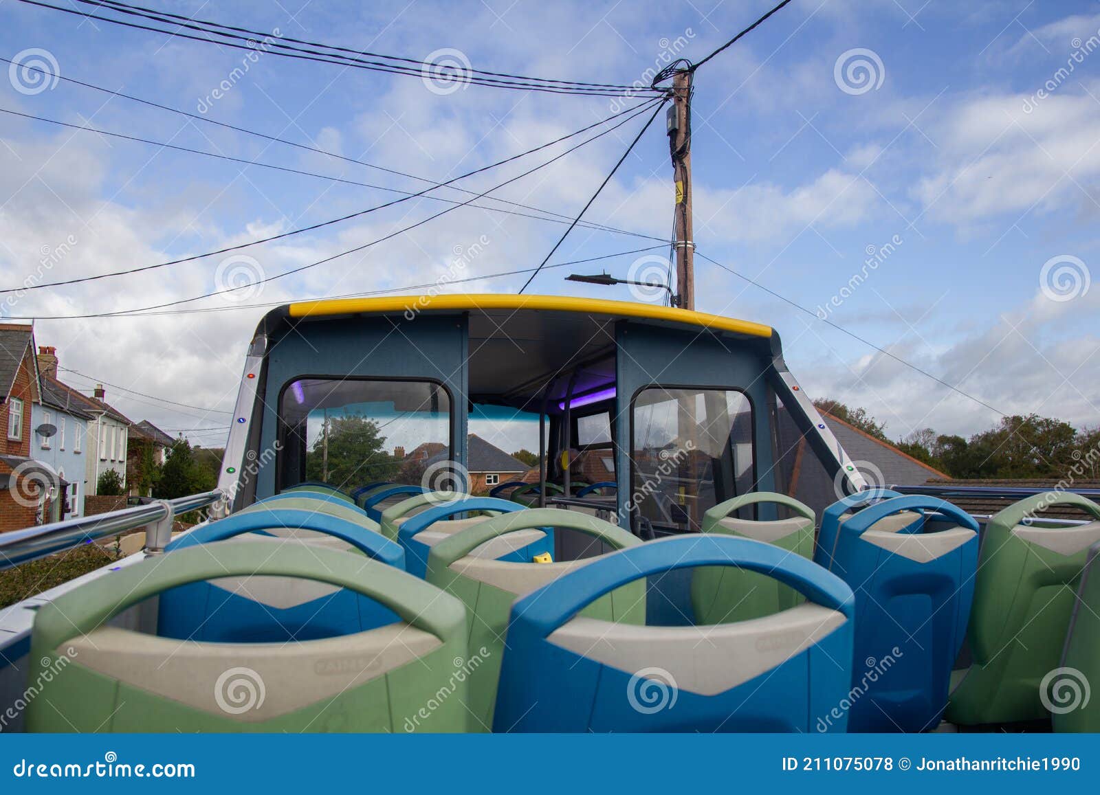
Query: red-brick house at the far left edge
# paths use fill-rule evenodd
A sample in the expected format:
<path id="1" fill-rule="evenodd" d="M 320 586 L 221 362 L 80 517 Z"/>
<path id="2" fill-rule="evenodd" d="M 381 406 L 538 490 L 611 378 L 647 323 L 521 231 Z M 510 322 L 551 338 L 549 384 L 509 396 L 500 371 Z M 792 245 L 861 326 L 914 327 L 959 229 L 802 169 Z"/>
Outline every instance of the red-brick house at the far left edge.
<path id="1" fill-rule="evenodd" d="M 32 457 L 32 407 L 41 399 L 34 328 L 0 323 L 0 532 L 41 525 L 61 486 L 48 464 Z M 0 479 L 0 483 L 3 483 Z"/>

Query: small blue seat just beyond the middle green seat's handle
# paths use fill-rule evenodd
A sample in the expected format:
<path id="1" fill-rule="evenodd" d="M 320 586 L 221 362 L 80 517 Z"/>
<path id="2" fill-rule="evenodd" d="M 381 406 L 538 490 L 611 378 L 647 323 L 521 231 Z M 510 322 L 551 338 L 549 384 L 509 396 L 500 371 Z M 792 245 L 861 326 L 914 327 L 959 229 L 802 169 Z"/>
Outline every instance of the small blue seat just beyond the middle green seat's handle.
<path id="1" fill-rule="evenodd" d="M 410 574 L 425 576 L 431 548 L 457 532 L 490 519 L 481 514 L 492 512 L 496 516 L 519 510 L 524 510 L 524 507 L 510 500 L 462 496 L 415 516 L 398 519 L 397 540 L 405 549 L 406 570 Z M 465 514 L 466 517 L 450 518 L 459 514 Z M 487 541 L 477 552 L 481 556 L 530 561 L 535 555 L 553 552 L 553 532 L 530 529 L 522 533 L 512 533 Z"/>

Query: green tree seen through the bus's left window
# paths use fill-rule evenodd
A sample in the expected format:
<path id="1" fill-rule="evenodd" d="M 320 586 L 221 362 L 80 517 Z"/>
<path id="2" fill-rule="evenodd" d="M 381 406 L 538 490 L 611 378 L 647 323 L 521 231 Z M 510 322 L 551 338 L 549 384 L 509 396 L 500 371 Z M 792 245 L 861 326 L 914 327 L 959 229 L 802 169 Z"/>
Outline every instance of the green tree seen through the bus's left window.
<path id="1" fill-rule="evenodd" d="M 330 417 L 306 456 L 306 479 L 355 488 L 373 481 L 392 481 L 400 460 L 386 451 L 378 423 L 359 415 Z"/>

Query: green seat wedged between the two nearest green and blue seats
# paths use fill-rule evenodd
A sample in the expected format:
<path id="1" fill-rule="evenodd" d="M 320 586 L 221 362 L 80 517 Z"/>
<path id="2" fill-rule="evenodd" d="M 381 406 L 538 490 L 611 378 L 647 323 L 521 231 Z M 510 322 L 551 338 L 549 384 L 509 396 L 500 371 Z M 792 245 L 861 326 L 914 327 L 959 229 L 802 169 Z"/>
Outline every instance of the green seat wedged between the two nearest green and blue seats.
<path id="1" fill-rule="evenodd" d="M 416 517 L 414 517 L 414 520 Z M 609 522 L 585 514 L 558 508 L 530 508 L 487 519 L 454 533 L 431 548 L 427 579 L 457 596 L 469 612 L 470 653 L 481 656 L 470 675 L 470 709 L 475 721 L 493 724 L 496 681 L 504 652 L 512 603 L 566 572 L 600 556 L 576 561 L 539 563 L 493 560 L 477 554 L 480 548 L 503 541 L 508 533 L 527 535 L 544 528 L 575 530 L 593 546 L 612 551 L 640 544 L 636 537 Z M 594 600 L 584 611 L 592 618 L 641 623 L 646 617 L 646 583 L 628 583 Z"/>

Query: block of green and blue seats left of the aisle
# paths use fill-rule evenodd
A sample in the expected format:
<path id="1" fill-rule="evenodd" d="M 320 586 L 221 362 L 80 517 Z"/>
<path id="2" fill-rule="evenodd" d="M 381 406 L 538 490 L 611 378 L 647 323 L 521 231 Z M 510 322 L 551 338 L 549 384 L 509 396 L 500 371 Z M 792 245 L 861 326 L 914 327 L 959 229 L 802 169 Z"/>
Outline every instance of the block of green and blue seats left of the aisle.
<path id="1" fill-rule="evenodd" d="M 851 593 L 804 559 L 719 535 L 642 543 L 586 514 L 463 495 L 416 494 L 382 511 L 384 530 L 355 501 L 305 485 L 44 606 L 32 658 L 61 670 L 38 700 L 61 710 L 32 704 L 29 728 L 806 731 L 847 691 L 833 660 L 850 658 Z M 559 531 L 592 556 L 554 562 Z M 424 578 L 403 571 L 425 550 Z M 806 604 L 646 626 L 647 578 L 702 565 Z M 154 596 L 158 636 L 108 626 Z"/>

